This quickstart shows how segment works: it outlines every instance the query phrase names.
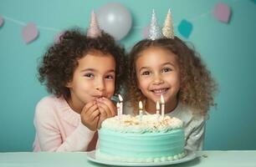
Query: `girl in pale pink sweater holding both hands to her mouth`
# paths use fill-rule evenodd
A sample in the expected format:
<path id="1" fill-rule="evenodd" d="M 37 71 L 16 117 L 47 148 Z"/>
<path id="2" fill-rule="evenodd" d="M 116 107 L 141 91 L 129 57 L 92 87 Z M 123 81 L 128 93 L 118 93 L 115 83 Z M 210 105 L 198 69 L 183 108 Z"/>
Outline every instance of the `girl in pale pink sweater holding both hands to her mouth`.
<path id="1" fill-rule="evenodd" d="M 115 115 L 125 50 L 107 33 L 88 34 L 66 31 L 44 54 L 39 81 L 53 95 L 36 107 L 34 151 L 95 149 L 96 130 Z"/>

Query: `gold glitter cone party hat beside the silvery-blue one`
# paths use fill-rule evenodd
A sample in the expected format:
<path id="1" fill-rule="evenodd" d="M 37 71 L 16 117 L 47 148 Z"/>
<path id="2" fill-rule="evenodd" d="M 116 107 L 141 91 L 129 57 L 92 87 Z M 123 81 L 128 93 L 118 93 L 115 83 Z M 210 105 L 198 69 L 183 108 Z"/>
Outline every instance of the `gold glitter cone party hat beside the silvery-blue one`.
<path id="1" fill-rule="evenodd" d="M 163 25 L 163 28 L 161 28 L 161 32 L 162 34 L 166 37 L 166 38 L 174 38 L 174 30 L 173 30 L 173 25 L 172 25 L 172 14 L 171 14 L 171 10 L 169 8 L 167 16 L 166 16 L 166 21 Z"/>

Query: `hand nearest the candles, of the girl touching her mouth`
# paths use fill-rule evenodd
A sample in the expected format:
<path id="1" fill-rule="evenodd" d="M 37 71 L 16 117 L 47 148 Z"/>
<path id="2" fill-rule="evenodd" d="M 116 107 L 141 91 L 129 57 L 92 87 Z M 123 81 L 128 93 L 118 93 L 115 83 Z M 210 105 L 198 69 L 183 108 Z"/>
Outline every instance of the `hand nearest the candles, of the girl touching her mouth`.
<path id="1" fill-rule="evenodd" d="M 115 104 L 113 104 L 110 99 L 106 98 L 97 99 L 97 104 L 100 110 L 100 119 L 97 127 L 100 129 L 102 121 L 115 116 L 116 108 Z"/>

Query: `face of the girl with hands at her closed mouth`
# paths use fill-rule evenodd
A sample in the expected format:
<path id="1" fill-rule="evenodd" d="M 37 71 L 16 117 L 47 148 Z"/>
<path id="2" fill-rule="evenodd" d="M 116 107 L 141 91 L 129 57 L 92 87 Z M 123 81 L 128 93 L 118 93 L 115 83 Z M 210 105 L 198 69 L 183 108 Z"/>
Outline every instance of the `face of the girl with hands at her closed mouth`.
<path id="1" fill-rule="evenodd" d="M 76 108 L 100 97 L 110 99 L 115 91 L 115 59 L 110 54 L 90 52 L 78 60 L 73 80 L 67 84 Z"/>

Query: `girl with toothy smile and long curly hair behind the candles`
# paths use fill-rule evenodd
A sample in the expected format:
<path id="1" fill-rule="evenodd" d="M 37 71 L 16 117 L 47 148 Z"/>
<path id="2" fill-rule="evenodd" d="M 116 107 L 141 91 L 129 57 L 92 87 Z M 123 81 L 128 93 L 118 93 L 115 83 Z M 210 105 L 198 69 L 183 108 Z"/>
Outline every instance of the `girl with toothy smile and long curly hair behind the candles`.
<path id="1" fill-rule="evenodd" d="M 125 113 L 138 114 L 141 100 L 146 114 L 156 114 L 162 95 L 164 114 L 183 121 L 187 149 L 202 149 L 207 111 L 215 105 L 216 90 L 199 55 L 173 33 L 160 38 L 153 33 L 131 49 Z"/>

